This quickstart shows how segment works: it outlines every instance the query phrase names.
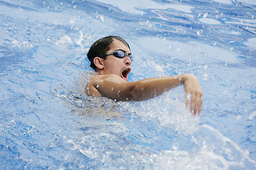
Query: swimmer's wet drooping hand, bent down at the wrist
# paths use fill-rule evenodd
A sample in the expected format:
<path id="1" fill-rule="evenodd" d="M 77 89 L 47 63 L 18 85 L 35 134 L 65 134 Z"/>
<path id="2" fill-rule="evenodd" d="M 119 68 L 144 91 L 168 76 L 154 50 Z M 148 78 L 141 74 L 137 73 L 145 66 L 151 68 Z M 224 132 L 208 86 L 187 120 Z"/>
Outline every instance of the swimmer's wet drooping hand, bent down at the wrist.
<path id="1" fill-rule="evenodd" d="M 193 74 L 184 74 L 183 84 L 186 92 L 186 107 L 189 107 L 193 115 L 201 114 L 203 105 L 203 91 L 198 79 Z"/>

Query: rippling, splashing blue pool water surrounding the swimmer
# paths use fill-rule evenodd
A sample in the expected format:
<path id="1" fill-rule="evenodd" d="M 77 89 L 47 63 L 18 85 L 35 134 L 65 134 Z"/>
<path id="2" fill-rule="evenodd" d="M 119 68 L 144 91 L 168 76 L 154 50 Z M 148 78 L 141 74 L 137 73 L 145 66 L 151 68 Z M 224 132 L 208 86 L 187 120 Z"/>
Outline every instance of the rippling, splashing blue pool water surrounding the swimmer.
<path id="1" fill-rule="evenodd" d="M 0 19 L 0 169 L 256 169 L 255 1 L 6 0 Z M 195 74 L 201 117 L 182 86 L 85 96 L 106 35 L 129 42 L 129 81 Z"/>

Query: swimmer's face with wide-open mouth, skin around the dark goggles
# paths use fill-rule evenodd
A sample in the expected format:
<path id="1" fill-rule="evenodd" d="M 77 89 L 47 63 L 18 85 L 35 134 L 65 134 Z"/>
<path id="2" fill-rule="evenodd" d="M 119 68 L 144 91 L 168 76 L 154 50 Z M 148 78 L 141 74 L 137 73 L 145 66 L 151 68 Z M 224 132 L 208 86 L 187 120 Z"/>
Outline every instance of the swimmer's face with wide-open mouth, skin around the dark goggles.
<path id="1" fill-rule="evenodd" d="M 131 54 L 129 47 L 124 45 L 123 42 L 114 39 L 107 54 L 116 50 L 122 50 L 126 55 Z M 128 74 L 131 72 L 132 62 L 127 56 L 124 58 L 117 58 L 113 55 L 107 55 L 106 59 L 102 60 L 102 64 L 103 68 L 99 70 L 100 74 L 116 74 L 117 76 L 122 77 L 122 79 L 127 80 Z"/>

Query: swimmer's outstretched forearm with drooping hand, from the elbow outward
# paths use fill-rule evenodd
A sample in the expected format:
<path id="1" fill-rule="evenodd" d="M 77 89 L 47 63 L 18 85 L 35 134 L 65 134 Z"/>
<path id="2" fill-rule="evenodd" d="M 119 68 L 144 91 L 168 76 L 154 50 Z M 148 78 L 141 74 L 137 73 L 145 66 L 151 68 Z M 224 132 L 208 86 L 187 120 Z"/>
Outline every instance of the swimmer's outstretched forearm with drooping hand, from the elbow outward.
<path id="1" fill-rule="evenodd" d="M 181 74 L 172 77 L 156 77 L 151 79 L 143 79 L 135 82 L 133 90 L 134 98 L 137 101 L 154 98 L 169 91 L 176 86 L 184 86 L 186 92 L 186 107 L 189 106 L 191 113 L 200 115 L 203 105 L 203 91 L 198 79 L 193 74 Z"/>

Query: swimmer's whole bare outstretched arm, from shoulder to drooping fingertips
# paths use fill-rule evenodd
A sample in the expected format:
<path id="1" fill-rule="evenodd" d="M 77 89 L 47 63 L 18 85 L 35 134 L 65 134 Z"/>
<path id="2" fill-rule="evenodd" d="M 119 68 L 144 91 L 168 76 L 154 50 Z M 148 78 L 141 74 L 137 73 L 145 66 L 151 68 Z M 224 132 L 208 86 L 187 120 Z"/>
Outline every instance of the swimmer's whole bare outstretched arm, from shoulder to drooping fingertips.
<path id="1" fill-rule="evenodd" d="M 144 101 L 154 98 L 183 84 L 191 98 L 186 98 L 186 106 L 191 101 L 191 112 L 201 113 L 203 91 L 193 74 L 181 74 L 173 77 L 156 77 L 128 82 L 114 74 L 99 75 L 90 80 L 90 96 L 105 96 L 117 101 Z"/>

